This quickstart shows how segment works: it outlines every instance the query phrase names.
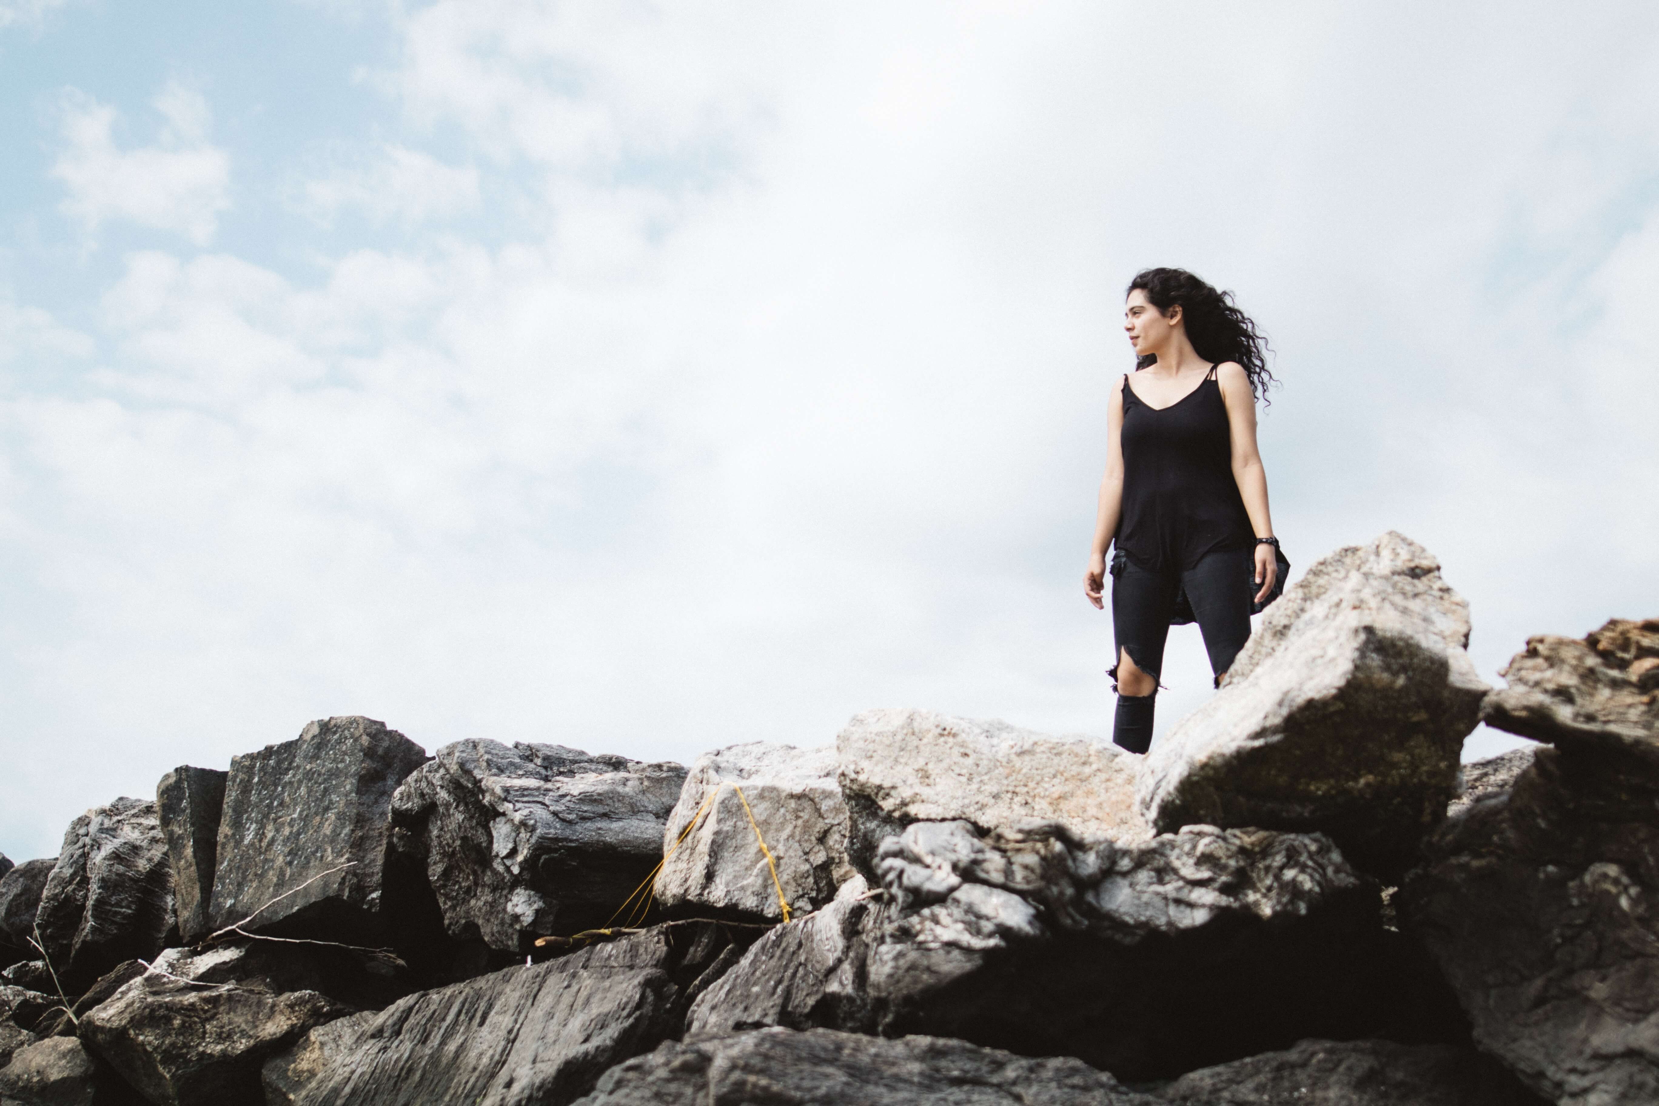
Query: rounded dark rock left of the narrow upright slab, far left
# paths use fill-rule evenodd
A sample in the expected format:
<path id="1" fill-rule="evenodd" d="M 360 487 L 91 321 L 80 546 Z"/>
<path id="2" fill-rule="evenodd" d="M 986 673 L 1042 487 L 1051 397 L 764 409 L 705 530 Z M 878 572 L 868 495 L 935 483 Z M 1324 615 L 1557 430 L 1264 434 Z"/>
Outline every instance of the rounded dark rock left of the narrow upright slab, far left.
<path id="1" fill-rule="evenodd" d="M 156 804 L 116 799 L 76 817 L 35 915 L 63 988 L 78 993 L 123 960 L 148 960 L 173 929 L 173 871 Z"/>

